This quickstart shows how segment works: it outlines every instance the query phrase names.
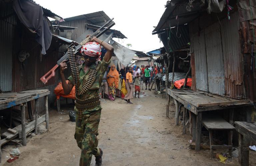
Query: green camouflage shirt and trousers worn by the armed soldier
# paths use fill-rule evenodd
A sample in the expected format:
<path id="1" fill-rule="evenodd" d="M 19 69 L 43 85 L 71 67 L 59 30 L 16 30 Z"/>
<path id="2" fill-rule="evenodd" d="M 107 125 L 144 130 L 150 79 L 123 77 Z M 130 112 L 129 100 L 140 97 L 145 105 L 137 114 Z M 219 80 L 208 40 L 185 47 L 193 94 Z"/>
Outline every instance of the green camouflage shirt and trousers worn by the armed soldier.
<path id="1" fill-rule="evenodd" d="M 99 88 L 102 81 L 102 77 L 110 64 L 111 60 L 109 62 L 103 61 L 99 62 L 99 68 L 98 72 L 95 76 L 95 81 L 93 82 L 90 89 L 84 94 L 83 96 L 80 96 L 81 99 L 90 99 L 91 97 L 99 94 Z M 90 66 L 90 69 L 85 73 L 83 70 L 84 66 L 79 67 L 79 89 L 81 90 L 82 85 L 89 77 L 89 72 L 93 68 L 96 68 L 96 64 L 92 64 Z M 70 76 L 68 80 L 73 83 L 73 78 Z M 76 132 L 75 132 L 75 139 L 77 142 L 77 145 L 79 148 L 82 149 L 81 152 L 81 158 L 80 158 L 80 166 L 89 166 L 92 159 L 92 154 L 95 156 L 100 155 L 100 150 L 97 147 L 98 146 L 98 126 L 100 122 L 100 115 L 101 115 L 101 109 L 102 107 L 96 106 L 92 109 L 86 109 L 83 111 L 83 119 L 78 119 L 78 110 L 75 107 L 76 111 Z"/>

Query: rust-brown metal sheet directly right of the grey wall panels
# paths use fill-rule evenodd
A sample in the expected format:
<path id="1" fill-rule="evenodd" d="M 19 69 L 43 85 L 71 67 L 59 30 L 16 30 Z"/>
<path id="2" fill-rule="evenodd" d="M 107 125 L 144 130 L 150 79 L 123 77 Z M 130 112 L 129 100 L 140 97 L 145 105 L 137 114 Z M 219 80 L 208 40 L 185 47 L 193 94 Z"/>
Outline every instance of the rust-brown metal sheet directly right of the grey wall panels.
<path id="1" fill-rule="evenodd" d="M 231 20 L 221 20 L 221 35 L 225 70 L 225 96 L 243 99 L 243 61 L 239 39 L 238 12 L 230 15 Z"/>

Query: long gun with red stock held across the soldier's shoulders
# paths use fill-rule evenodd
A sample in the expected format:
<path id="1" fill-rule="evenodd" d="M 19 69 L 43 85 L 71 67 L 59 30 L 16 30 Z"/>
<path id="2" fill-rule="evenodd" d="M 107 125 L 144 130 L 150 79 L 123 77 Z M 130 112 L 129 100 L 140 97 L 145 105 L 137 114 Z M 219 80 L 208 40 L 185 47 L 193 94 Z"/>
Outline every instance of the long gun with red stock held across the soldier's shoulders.
<path id="1" fill-rule="evenodd" d="M 87 37 L 85 40 L 83 40 L 79 45 L 75 46 L 75 52 L 78 52 L 85 43 L 88 43 L 94 36 L 95 37 L 100 37 L 103 33 L 105 33 L 108 29 L 110 29 L 112 26 L 115 25 L 115 23 L 111 23 L 108 27 L 103 29 L 106 25 L 108 25 L 114 18 L 111 20 L 107 21 L 102 27 L 100 27 L 97 31 L 95 31 L 92 35 Z M 103 30 L 102 30 L 103 29 Z M 102 30 L 102 31 L 101 31 Z M 68 46 L 69 47 L 69 46 Z M 55 70 L 59 67 L 60 63 L 64 60 L 68 60 L 68 52 L 66 52 L 58 61 L 57 64 L 50 70 L 48 71 L 43 77 L 40 78 L 40 80 L 46 84 L 52 77 L 55 76 Z"/>

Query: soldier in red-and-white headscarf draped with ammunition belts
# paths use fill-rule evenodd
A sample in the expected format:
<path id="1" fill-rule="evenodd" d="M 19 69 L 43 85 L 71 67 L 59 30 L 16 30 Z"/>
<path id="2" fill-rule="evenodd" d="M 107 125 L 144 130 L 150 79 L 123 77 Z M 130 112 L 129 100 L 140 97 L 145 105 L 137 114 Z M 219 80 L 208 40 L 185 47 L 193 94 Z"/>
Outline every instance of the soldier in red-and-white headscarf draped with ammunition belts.
<path id="1" fill-rule="evenodd" d="M 87 36 L 88 37 L 88 36 Z M 102 61 L 101 46 L 107 52 Z M 66 60 L 60 63 L 60 74 L 62 87 L 65 94 L 69 94 L 73 86 L 78 82 L 79 94 L 76 94 L 75 111 L 76 111 L 76 130 L 75 139 L 79 148 L 81 148 L 80 166 L 89 166 L 92 155 L 96 157 L 96 166 L 102 164 L 101 148 L 98 148 L 98 126 L 101 115 L 101 105 L 99 97 L 99 88 L 102 77 L 111 62 L 113 47 L 108 43 L 93 37 L 90 42 L 81 48 L 81 54 L 84 57 L 84 63 L 79 67 L 79 80 L 75 81 L 72 76 L 68 78 L 68 83 L 64 76 L 67 69 Z M 77 92 L 76 92 L 77 93 Z"/>

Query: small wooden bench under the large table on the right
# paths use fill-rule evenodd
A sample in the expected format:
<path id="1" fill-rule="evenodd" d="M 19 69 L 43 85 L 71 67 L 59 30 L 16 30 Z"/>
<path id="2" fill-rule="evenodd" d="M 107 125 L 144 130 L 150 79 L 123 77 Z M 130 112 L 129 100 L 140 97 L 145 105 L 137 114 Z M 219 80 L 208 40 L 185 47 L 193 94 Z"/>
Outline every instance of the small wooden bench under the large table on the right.
<path id="1" fill-rule="evenodd" d="M 211 158 L 213 158 L 213 149 L 229 149 L 230 156 L 232 155 L 232 130 L 235 130 L 235 127 L 230 123 L 225 121 L 221 117 L 216 116 L 207 116 L 202 119 L 203 126 L 209 131 L 210 136 L 210 150 Z M 228 131 L 228 145 L 213 145 L 213 130 L 227 130 Z"/>

